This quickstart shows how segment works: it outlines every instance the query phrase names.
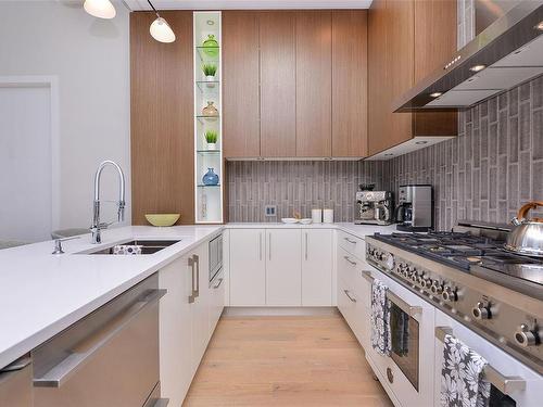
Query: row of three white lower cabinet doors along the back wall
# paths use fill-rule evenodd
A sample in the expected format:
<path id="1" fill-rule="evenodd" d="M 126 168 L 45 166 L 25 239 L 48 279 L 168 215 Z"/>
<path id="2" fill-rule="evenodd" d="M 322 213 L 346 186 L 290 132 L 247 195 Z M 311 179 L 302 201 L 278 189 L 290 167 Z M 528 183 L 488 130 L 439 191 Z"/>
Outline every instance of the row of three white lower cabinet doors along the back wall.
<path id="1" fill-rule="evenodd" d="M 333 230 L 229 230 L 230 306 L 331 306 Z"/>

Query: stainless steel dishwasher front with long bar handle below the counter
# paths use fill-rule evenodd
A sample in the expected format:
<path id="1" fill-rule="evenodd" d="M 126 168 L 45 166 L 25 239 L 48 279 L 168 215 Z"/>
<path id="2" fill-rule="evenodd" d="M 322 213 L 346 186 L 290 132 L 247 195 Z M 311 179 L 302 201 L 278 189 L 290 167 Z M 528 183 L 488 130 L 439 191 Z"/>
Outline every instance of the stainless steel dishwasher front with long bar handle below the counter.
<path id="1" fill-rule="evenodd" d="M 35 407 L 164 407 L 157 275 L 31 352 Z"/>

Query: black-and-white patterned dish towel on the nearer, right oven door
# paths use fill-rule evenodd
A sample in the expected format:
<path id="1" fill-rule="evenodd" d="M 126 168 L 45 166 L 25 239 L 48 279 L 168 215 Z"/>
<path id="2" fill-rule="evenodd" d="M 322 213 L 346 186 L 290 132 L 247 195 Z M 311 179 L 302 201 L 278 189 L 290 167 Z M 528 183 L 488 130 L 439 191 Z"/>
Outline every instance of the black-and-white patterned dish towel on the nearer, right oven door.
<path id="1" fill-rule="evenodd" d="M 484 358 L 446 334 L 441 371 L 442 407 L 487 407 L 490 383 L 482 380 Z"/>

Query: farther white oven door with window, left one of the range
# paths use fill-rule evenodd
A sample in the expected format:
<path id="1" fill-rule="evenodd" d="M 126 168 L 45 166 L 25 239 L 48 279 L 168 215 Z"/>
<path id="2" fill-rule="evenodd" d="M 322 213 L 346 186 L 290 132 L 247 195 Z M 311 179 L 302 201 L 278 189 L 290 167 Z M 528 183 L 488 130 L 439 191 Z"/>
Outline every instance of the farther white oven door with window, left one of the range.
<path id="1" fill-rule="evenodd" d="M 431 406 L 434 308 L 381 271 L 368 272 L 389 288 L 392 349 L 382 356 L 369 346 L 366 358 L 395 406 Z"/>

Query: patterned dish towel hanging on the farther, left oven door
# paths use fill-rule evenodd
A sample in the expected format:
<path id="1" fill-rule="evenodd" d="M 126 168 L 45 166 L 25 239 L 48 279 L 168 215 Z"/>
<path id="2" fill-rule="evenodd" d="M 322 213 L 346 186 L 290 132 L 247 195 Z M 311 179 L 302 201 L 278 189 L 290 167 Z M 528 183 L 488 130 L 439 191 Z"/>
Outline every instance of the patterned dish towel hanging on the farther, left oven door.
<path id="1" fill-rule="evenodd" d="M 390 355 L 390 302 L 388 288 L 378 279 L 371 283 L 371 346 L 380 355 Z"/>

